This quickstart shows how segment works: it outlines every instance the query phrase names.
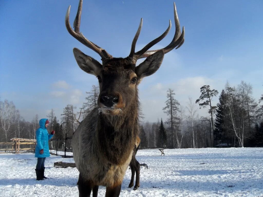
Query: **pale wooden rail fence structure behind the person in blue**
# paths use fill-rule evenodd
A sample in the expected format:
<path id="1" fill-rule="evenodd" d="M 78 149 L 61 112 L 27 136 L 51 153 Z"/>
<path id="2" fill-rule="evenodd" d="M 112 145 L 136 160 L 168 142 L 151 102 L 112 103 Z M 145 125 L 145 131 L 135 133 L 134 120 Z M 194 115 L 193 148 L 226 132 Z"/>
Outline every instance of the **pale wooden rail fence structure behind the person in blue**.
<path id="1" fill-rule="evenodd" d="M 19 151 L 33 151 L 36 147 L 35 139 L 12 138 L 12 142 L 0 142 L 0 153 Z"/>

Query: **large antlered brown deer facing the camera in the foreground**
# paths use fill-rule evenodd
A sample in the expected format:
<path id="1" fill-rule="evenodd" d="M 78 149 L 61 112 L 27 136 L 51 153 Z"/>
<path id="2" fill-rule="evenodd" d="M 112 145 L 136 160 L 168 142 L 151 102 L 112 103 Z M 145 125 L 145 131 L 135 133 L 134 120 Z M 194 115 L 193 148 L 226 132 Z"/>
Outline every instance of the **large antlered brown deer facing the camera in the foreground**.
<path id="1" fill-rule="evenodd" d="M 137 147 L 139 133 L 138 85 L 144 77 L 154 74 L 160 67 L 164 54 L 178 49 L 184 43 L 184 27 L 180 23 L 174 3 L 175 34 L 165 48 L 149 50 L 161 41 L 171 29 L 171 20 L 165 32 L 135 52 L 143 19 L 131 43 L 126 58 L 115 58 L 105 49 L 91 42 L 80 32 L 82 0 L 79 1 L 73 28 L 69 23 L 68 7 L 65 25 L 70 35 L 94 50 L 101 57 L 102 64 L 77 48 L 73 54 L 78 66 L 88 74 L 97 77 L 100 93 L 98 107 L 82 120 L 72 138 L 73 157 L 79 171 L 79 196 L 98 195 L 99 186 L 106 187 L 106 197 L 119 196 L 128 165 Z M 136 66 L 136 61 L 146 58 Z"/>

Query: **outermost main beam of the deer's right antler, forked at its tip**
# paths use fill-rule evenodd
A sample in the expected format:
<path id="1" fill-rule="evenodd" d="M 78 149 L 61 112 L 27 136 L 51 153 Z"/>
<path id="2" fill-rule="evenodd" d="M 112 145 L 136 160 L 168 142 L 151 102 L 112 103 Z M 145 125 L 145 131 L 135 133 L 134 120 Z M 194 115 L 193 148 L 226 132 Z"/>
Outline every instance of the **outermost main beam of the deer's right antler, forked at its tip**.
<path id="1" fill-rule="evenodd" d="M 176 49 L 178 49 L 184 43 L 184 27 L 182 29 L 182 33 L 180 33 L 180 23 L 179 23 L 178 14 L 176 11 L 175 3 L 174 3 L 174 22 L 175 22 L 175 34 L 174 34 L 173 40 L 165 48 L 159 49 L 159 50 L 164 50 L 164 53 L 168 53 L 169 51 L 173 50 L 176 46 L 177 46 Z M 136 59 L 146 58 L 149 55 L 151 55 L 151 54 L 153 54 L 159 50 L 146 51 L 141 55 L 139 53 L 140 51 L 138 51 L 135 53 Z"/>

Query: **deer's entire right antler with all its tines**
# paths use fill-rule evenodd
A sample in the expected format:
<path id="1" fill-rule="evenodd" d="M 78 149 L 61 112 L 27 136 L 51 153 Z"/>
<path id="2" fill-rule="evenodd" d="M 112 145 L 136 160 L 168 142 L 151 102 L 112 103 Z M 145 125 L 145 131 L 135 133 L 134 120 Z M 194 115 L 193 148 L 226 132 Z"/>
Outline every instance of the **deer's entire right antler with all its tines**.
<path id="1" fill-rule="evenodd" d="M 171 41 L 171 43 L 169 45 L 167 45 L 165 48 L 163 49 L 158 49 L 158 50 L 150 50 L 147 51 L 148 49 L 150 49 L 153 45 L 155 45 L 156 43 L 160 42 L 170 31 L 171 28 L 171 20 L 169 20 L 169 27 L 166 29 L 166 31 L 158 38 L 156 38 L 155 40 L 151 41 L 149 44 L 147 44 L 143 49 L 141 49 L 138 52 L 134 52 L 135 51 L 135 45 L 136 45 L 136 41 L 139 37 L 140 31 L 141 31 L 141 26 L 142 26 L 142 19 L 139 25 L 139 28 L 135 34 L 135 37 L 133 39 L 132 45 L 131 45 L 131 52 L 129 57 L 134 58 L 134 59 L 141 59 L 141 58 L 146 58 L 149 55 L 155 53 L 156 51 L 159 50 L 164 50 L 164 53 L 168 53 L 169 51 L 173 50 L 176 46 L 176 49 L 178 49 L 183 43 L 184 43 L 184 27 L 182 30 L 182 33 L 180 33 L 180 23 L 179 23 L 179 18 L 178 18 L 178 14 L 176 11 L 176 6 L 174 3 L 174 22 L 175 22 L 175 34 L 174 34 L 174 38 Z"/>

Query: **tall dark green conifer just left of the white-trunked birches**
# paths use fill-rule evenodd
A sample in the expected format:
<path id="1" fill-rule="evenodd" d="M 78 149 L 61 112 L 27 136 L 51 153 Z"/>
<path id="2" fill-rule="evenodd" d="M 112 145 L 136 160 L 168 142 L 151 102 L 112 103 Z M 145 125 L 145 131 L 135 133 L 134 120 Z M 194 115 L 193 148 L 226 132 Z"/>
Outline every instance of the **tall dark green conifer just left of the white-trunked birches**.
<path id="1" fill-rule="evenodd" d="M 225 113 L 226 113 L 225 91 L 222 90 L 219 96 L 219 103 L 217 103 L 215 131 L 214 131 L 214 141 L 218 141 L 218 143 L 222 142 L 222 137 L 224 137 L 226 133 Z"/>

